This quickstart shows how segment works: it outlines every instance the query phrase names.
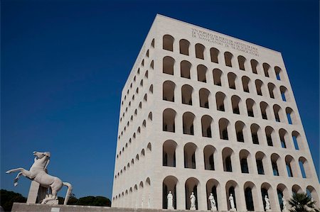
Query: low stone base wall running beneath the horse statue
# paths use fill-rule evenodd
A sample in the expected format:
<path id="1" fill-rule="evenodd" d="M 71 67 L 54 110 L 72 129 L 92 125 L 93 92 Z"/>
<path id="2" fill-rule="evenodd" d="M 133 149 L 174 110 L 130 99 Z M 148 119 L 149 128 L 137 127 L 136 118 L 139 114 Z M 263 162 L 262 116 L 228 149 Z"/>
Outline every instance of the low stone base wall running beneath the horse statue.
<path id="1" fill-rule="evenodd" d="M 27 203 L 14 203 L 12 212 L 156 212 L 156 211 L 169 211 L 164 209 L 147 209 L 147 208 L 111 208 L 111 207 L 99 207 L 99 206 L 64 206 L 64 205 L 43 205 L 43 204 L 27 204 Z M 171 211 L 171 210 L 170 210 Z M 175 212 L 189 211 L 189 210 L 172 210 Z M 199 211 L 199 210 L 197 210 Z M 208 210 L 209 211 L 209 210 Z M 199 211 L 204 212 L 204 211 Z M 216 211 L 216 212 L 228 212 L 228 211 Z M 247 212 L 247 211 L 238 211 Z M 262 212 L 262 211 L 252 211 Z M 280 212 L 280 211 L 272 211 Z"/>

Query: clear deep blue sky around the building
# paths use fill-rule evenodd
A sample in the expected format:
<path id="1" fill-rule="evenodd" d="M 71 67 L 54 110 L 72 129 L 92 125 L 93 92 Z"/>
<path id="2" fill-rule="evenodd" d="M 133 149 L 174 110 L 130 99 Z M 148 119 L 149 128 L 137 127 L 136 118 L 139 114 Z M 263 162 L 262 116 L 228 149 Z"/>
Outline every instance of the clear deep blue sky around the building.
<path id="1" fill-rule="evenodd" d="M 122 87 L 156 13 L 282 52 L 319 173 L 319 1 L 1 1 L 1 189 L 50 151 L 77 197 L 111 199 Z M 65 196 L 65 190 L 59 192 Z"/>

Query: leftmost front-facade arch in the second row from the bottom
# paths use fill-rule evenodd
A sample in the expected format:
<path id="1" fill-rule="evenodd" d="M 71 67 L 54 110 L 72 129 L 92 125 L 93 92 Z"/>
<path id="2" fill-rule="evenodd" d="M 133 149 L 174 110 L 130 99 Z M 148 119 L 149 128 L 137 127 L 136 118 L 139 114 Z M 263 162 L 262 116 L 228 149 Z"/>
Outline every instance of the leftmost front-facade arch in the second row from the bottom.
<path id="1" fill-rule="evenodd" d="M 176 167 L 176 147 L 174 140 L 166 140 L 162 151 L 162 165 L 166 167 Z"/>

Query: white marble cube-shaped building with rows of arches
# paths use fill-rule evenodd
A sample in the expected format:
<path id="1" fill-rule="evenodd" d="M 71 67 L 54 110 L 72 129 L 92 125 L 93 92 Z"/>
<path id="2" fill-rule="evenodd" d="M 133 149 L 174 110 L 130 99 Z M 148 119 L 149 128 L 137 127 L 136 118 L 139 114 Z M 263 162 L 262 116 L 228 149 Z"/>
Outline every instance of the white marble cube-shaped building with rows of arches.
<path id="1" fill-rule="evenodd" d="M 319 180 L 280 52 L 157 15 L 122 90 L 112 207 L 282 210 Z M 289 206 L 288 206 L 289 207 Z"/>

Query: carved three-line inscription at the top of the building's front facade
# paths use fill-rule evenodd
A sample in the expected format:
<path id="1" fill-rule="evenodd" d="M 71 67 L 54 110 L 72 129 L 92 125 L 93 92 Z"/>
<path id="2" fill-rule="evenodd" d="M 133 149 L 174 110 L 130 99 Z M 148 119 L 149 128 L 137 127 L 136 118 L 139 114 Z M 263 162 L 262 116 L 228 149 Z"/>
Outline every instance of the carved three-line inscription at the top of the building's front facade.
<path id="1" fill-rule="evenodd" d="M 210 43 L 214 43 L 215 45 L 224 46 L 226 48 L 231 48 L 233 50 L 238 50 L 240 52 L 246 52 L 250 55 L 259 56 L 259 52 L 257 48 L 252 45 L 247 45 L 238 40 L 233 40 L 230 38 L 226 38 L 223 35 L 218 35 L 215 33 L 208 33 L 204 30 L 199 30 L 192 28 L 191 29 L 192 37 L 198 38 L 200 40 L 206 40 Z"/>

